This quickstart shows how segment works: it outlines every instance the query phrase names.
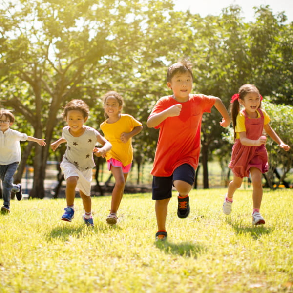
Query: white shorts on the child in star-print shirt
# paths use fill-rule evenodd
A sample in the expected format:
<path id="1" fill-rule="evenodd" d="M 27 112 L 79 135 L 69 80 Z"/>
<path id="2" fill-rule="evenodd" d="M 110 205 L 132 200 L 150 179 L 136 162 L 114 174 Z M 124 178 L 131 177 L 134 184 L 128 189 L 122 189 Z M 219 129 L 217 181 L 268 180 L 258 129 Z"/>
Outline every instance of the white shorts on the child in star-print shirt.
<path id="1" fill-rule="evenodd" d="M 90 196 L 93 174 L 93 170 L 91 168 L 85 171 L 81 171 L 69 162 L 61 162 L 60 168 L 64 174 L 65 180 L 72 176 L 78 177 L 76 188 L 81 190 L 86 196 Z"/>

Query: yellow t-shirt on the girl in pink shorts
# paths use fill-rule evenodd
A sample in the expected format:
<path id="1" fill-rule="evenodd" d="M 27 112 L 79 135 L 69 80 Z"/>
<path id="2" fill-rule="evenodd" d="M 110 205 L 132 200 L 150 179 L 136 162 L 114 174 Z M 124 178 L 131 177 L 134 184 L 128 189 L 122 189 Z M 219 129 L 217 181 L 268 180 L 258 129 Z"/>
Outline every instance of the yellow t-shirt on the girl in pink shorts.
<path id="1" fill-rule="evenodd" d="M 101 123 L 100 127 L 107 139 L 111 144 L 112 148 L 106 154 L 106 160 L 111 158 L 116 159 L 122 163 L 123 166 L 127 166 L 133 160 L 133 148 L 131 138 L 123 143 L 120 139 L 120 135 L 123 132 L 131 132 L 134 127 L 142 126 L 142 123 L 137 121 L 131 115 L 120 114 L 120 119 L 115 123 L 107 123 L 105 120 Z"/>

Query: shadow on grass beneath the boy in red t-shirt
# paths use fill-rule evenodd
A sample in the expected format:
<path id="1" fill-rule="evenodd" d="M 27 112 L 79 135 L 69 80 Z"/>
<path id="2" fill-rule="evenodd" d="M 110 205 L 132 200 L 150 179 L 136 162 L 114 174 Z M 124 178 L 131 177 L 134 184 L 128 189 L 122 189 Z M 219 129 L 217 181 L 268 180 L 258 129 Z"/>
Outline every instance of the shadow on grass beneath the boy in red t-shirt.
<path id="1" fill-rule="evenodd" d="M 182 242 L 180 244 L 175 244 L 168 241 L 157 241 L 155 245 L 160 250 L 169 254 L 181 255 L 184 257 L 197 258 L 197 256 L 206 251 L 206 248 L 202 245 L 194 245 L 189 242 Z"/>

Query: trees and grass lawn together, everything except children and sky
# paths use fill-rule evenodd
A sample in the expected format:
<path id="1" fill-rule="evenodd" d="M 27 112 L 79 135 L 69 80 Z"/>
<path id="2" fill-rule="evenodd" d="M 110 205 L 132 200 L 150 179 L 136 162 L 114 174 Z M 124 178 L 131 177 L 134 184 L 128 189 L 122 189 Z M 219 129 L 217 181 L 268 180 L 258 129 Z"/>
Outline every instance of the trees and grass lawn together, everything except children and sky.
<path id="1" fill-rule="evenodd" d="M 195 2 L 209 5 L 211 13 L 197 13 Z M 101 97 L 112 89 L 123 95 L 124 112 L 144 124 L 133 140 L 128 190 L 149 188 L 158 131 L 148 129 L 146 119 L 159 97 L 170 93 L 168 65 L 182 57 L 194 64 L 193 92 L 219 96 L 227 107 L 242 84 L 255 84 L 272 127 L 292 146 L 292 15 L 257 0 L 257 7 L 250 7 L 252 19 L 237 5 L 214 13 L 219 2 L 0 1 L 0 107 L 14 110 L 13 129 L 44 137 L 48 144 L 21 143 L 15 181 L 23 184 L 29 200 L 13 200 L 11 213 L 0 214 L 0 292 L 293 292 L 292 150 L 285 152 L 268 140 L 265 225 L 251 226 L 248 182 L 225 216 L 233 133 L 231 127 L 219 126 L 217 111 L 203 119 L 191 213 L 183 221 L 177 217 L 174 192 L 166 243 L 154 241 L 151 192 L 125 194 L 113 226 L 105 222 L 111 197 L 94 196 L 93 229 L 83 223 L 80 198 L 72 223 L 60 220 L 64 198 L 44 200 L 61 197 L 64 188 L 60 181 L 56 193 L 65 146 L 56 153 L 49 148 L 64 126 L 62 107 L 73 98 L 83 99 L 91 107 L 88 125 L 99 129 Z M 105 188 L 109 173 L 105 162 L 97 163 L 95 174 Z M 100 195 L 95 179 L 93 195 Z"/>

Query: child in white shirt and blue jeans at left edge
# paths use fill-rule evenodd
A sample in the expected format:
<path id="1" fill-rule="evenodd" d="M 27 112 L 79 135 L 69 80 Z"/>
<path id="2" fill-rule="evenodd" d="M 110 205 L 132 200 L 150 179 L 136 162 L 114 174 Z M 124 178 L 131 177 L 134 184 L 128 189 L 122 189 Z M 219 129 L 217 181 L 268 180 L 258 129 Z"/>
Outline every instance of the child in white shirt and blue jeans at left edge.
<path id="1" fill-rule="evenodd" d="M 10 129 L 15 117 L 9 110 L 0 110 L 0 178 L 2 179 L 2 196 L 4 205 L 3 213 L 10 212 L 11 191 L 15 193 L 18 200 L 22 199 L 21 184 L 13 184 L 13 175 L 21 161 L 20 141 L 36 142 L 45 146 L 45 139 L 28 136 L 16 130 Z"/>

